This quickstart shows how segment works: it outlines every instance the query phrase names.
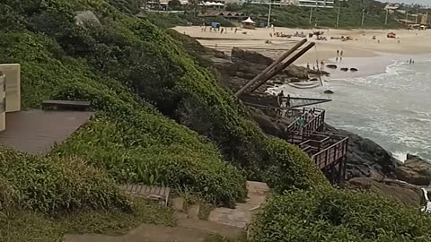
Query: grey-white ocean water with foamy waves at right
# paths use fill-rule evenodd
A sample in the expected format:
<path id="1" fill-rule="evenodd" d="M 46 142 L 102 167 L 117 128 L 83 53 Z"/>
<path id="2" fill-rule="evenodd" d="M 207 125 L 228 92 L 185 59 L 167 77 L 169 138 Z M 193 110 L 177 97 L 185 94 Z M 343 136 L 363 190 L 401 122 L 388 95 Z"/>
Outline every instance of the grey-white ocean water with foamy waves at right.
<path id="1" fill-rule="evenodd" d="M 315 89 L 280 88 L 294 97 L 332 99 L 319 106 L 330 125 L 379 143 L 399 160 L 413 153 L 431 161 L 431 56 L 415 58 L 414 65 L 397 57 L 385 73 L 330 80 Z"/>

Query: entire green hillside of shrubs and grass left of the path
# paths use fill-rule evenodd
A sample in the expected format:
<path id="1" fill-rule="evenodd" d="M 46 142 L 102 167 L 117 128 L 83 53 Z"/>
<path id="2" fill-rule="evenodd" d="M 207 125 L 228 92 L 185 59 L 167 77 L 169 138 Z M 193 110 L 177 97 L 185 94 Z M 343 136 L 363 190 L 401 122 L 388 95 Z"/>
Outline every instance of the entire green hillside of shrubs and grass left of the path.
<path id="1" fill-rule="evenodd" d="M 121 194 L 116 187 L 127 182 L 180 188 L 226 206 L 244 199 L 245 177 L 277 192 L 332 191 L 303 151 L 263 134 L 215 73 L 186 52 L 196 43 L 127 14 L 130 1 L 0 3 L 0 60 L 22 65 L 22 106 L 88 99 L 96 111 L 44 157 L 0 148 L 0 241 L 172 224 L 169 211 L 155 216 L 160 208 Z M 78 26 L 81 11 L 97 19 Z"/>

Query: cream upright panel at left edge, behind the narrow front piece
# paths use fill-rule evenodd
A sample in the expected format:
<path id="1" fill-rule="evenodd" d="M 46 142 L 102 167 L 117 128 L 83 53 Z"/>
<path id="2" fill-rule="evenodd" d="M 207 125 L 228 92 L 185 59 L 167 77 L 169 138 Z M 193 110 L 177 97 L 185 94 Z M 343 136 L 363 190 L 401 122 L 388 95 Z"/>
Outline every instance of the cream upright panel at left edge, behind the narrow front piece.
<path id="1" fill-rule="evenodd" d="M 21 65 L 1 64 L 0 73 L 5 74 L 6 113 L 21 110 Z"/>

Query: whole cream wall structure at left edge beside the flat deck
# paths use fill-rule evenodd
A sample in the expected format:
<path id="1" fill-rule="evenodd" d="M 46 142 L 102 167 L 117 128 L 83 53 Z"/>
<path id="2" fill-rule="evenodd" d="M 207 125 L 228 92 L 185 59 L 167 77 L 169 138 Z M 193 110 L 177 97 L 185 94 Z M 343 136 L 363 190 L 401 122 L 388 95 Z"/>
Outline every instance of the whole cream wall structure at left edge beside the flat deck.
<path id="1" fill-rule="evenodd" d="M 21 110 L 21 66 L 0 65 L 0 131 L 6 129 L 6 113 Z"/>

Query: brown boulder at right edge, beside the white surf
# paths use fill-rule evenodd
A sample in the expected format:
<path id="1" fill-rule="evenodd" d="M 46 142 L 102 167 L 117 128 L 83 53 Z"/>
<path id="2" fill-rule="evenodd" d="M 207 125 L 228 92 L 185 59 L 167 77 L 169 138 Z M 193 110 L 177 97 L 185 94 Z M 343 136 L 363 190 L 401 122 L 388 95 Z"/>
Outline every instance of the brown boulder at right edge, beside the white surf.
<path id="1" fill-rule="evenodd" d="M 431 163 L 416 155 L 407 155 L 407 160 L 395 170 L 396 177 L 417 186 L 429 186 L 431 183 Z"/>

